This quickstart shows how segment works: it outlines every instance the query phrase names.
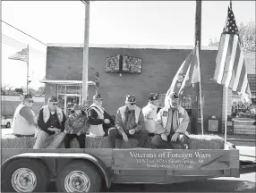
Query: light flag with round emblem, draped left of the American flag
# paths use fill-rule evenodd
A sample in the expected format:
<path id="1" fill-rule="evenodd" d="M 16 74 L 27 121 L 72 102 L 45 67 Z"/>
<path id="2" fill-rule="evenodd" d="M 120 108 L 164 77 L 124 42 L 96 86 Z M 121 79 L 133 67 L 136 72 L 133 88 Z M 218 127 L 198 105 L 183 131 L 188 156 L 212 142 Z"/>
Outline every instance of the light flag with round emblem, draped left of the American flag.
<path id="1" fill-rule="evenodd" d="M 172 93 L 182 95 L 183 89 L 191 84 L 201 82 L 200 59 L 198 45 L 190 55 L 183 61 L 183 64 L 175 74 L 171 87 L 166 92 L 165 105 L 168 105 L 168 98 Z"/>

